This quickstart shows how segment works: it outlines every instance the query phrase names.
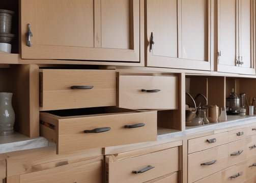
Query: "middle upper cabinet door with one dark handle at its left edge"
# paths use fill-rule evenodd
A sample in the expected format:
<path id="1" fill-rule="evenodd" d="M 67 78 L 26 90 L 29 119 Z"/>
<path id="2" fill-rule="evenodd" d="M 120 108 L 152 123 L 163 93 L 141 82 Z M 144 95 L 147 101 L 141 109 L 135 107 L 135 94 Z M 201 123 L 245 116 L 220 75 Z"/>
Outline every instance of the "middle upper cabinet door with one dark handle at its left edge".
<path id="1" fill-rule="evenodd" d="M 147 66 L 210 70 L 211 4 L 147 0 Z"/>

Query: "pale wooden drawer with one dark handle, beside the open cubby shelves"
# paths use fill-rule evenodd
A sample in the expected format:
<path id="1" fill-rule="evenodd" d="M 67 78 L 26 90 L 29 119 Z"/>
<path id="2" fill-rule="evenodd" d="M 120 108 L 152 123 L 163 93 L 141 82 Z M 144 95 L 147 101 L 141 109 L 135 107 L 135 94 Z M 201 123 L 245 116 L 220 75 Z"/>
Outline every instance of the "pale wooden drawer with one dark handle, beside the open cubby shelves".
<path id="1" fill-rule="evenodd" d="M 129 109 L 178 109 L 178 76 L 119 76 L 118 106 Z"/>

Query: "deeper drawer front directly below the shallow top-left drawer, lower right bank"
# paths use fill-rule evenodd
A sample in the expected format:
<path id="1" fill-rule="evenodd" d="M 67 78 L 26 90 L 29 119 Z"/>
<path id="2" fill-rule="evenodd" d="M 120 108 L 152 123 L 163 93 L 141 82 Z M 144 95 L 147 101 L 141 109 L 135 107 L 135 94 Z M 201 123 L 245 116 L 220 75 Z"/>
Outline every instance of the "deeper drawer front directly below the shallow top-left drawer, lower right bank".
<path id="1" fill-rule="evenodd" d="M 228 145 L 220 145 L 188 155 L 188 182 L 211 175 L 227 166 Z"/>

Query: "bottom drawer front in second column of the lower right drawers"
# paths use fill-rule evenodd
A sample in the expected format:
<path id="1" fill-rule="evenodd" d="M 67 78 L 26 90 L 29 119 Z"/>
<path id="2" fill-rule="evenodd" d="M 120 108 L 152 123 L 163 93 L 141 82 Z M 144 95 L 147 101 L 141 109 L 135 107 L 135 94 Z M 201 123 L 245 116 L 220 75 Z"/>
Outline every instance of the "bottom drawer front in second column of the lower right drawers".
<path id="1" fill-rule="evenodd" d="M 241 183 L 246 180 L 245 162 L 233 165 L 222 171 L 222 182 Z"/>

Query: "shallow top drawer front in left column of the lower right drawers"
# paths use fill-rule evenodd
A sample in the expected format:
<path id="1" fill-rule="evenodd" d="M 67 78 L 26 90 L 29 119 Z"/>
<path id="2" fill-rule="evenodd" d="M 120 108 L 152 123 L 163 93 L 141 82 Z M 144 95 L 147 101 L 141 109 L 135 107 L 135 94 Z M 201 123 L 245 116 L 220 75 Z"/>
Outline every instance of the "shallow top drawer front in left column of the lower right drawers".
<path id="1" fill-rule="evenodd" d="M 188 140 L 188 154 L 227 143 L 227 132 Z"/>

